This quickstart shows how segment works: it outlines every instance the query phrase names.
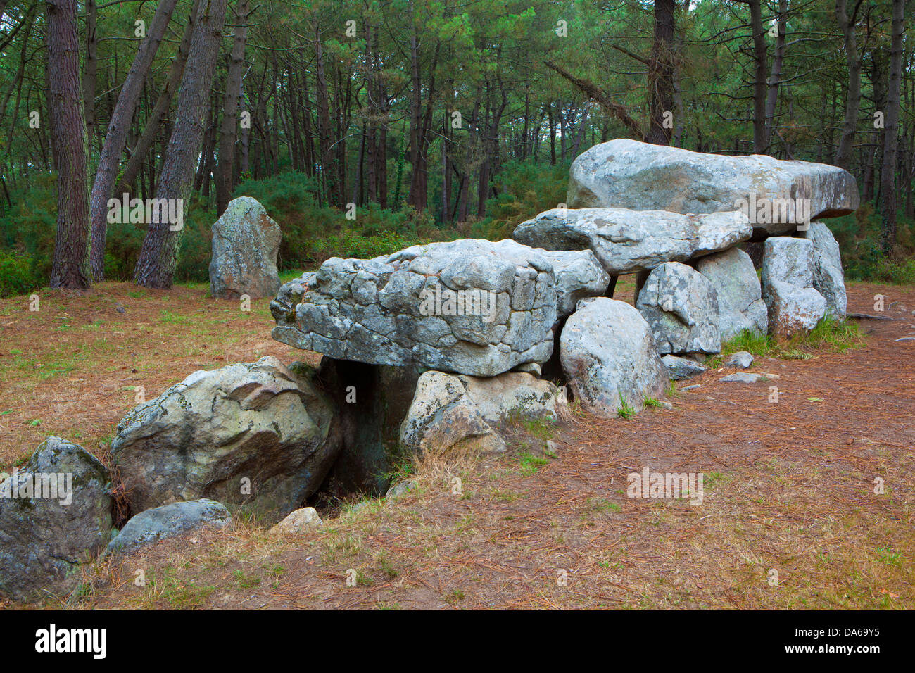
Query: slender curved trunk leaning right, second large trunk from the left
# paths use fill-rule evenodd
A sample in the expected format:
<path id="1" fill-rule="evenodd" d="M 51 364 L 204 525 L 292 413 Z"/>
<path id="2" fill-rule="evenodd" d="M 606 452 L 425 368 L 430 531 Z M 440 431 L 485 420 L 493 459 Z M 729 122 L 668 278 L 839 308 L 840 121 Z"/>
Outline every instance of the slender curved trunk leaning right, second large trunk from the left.
<path id="1" fill-rule="evenodd" d="M 130 129 L 131 120 L 134 118 L 136 103 L 143 92 L 143 83 L 146 73 L 152 65 L 159 49 L 159 44 L 165 35 L 168 22 L 178 0 L 162 0 L 156 5 L 156 15 L 149 25 L 149 32 L 137 50 L 133 65 L 127 72 L 121 94 L 114 106 L 112 120 L 108 124 L 105 142 L 102 145 L 102 154 L 99 156 L 99 168 L 95 172 L 95 182 L 92 183 L 92 196 L 90 197 L 90 212 L 92 219 L 92 278 L 96 281 L 104 277 L 105 262 L 105 236 L 108 229 L 108 200 L 112 196 L 114 181 L 117 179 L 118 163 L 124 151 L 124 140 Z M 88 3 L 87 3 L 88 6 Z M 94 86 L 94 84 L 93 84 Z M 94 92 L 92 93 L 94 95 Z M 86 102 L 87 111 L 90 109 Z"/>

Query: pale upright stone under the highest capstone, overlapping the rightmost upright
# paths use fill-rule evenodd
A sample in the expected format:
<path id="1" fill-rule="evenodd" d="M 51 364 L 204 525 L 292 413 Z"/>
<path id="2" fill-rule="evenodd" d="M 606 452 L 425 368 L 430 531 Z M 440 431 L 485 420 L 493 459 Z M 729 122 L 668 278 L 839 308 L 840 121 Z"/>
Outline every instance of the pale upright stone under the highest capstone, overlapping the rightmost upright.
<path id="1" fill-rule="evenodd" d="M 769 309 L 769 330 L 791 338 L 813 330 L 826 314 L 826 300 L 813 288 L 813 242 L 772 236 L 762 257 L 762 299 Z"/>

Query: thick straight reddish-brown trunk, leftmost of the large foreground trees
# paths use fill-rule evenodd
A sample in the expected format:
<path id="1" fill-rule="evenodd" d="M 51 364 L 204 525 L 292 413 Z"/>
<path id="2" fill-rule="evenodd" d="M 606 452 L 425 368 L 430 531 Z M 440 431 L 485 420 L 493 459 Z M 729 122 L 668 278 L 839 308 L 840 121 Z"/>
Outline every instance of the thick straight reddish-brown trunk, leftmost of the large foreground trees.
<path id="1" fill-rule="evenodd" d="M 88 288 L 89 149 L 80 86 L 76 0 L 47 0 L 48 109 L 58 155 L 58 218 L 51 288 Z"/>

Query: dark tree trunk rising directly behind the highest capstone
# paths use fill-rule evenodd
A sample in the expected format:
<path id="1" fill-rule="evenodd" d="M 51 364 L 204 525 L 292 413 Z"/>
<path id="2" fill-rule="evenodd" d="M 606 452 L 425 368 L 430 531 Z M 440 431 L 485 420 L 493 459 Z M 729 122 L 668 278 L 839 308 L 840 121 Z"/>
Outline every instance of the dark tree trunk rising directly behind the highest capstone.
<path id="1" fill-rule="evenodd" d="M 670 145 L 673 128 L 665 128 L 664 113 L 673 113 L 673 13 L 676 0 L 654 0 L 654 41 L 648 85 L 651 124 L 645 142 Z"/>

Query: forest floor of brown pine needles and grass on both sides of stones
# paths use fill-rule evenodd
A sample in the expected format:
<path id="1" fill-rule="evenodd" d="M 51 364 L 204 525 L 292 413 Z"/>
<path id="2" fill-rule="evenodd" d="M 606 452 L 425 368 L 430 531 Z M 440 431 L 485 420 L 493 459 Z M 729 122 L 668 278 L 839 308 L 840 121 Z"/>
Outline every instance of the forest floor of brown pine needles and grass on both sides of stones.
<path id="1" fill-rule="evenodd" d="M 510 424 L 504 454 L 426 457 L 408 494 L 346 506 L 316 532 L 236 520 L 93 564 L 43 604 L 913 608 L 915 341 L 895 340 L 915 334 L 915 288 L 852 284 L 849 311 L 874 314 L 877 294 L 895 320 L 858 320 L 857 348 L 758 357 L 751 371 L 778 378 L 710 369 L 676 386 L 701 387 L 669 396 L 673 409 Z M 149 399 L 196 369 L 318 359 L 270 338 L 267 299 L 242 311 L 205 286 L 117 283 L 38 297 L 38 311 L 0 299 L 0 471 L 49 434 L 103 453 L 138 386 Z M 646 466 L 701 472 L 702 503 L 628 498 Z"/>

